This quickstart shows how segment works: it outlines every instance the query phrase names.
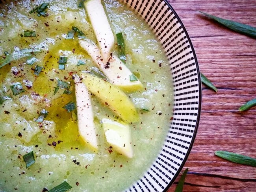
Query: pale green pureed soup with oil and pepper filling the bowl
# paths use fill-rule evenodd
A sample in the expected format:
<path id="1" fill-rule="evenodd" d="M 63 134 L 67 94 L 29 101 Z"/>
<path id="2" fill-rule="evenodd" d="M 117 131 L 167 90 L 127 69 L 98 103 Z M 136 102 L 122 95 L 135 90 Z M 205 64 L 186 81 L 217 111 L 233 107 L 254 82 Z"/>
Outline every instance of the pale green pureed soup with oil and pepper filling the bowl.
<path id="1" fill-rule="evenodd" d="M 75 75 L 88 71 L 108 79 L 79 44 L 89 39 L 98 46 L 91 20 L 80 1 L 52 0 L 35 9 L 43 3 L 0 4 L 0 191 L 46 191 L 64 181 L 70 192 L 125 190 L 152 164 L 165 140 L 173 101 L 168 61 L 141 18 L 118 1 L 102 1 L 115 37 L 111 55 L 120 55 L 115 34 L 122 33 L 124 65 L 134 74 L 130 81 L 143 86 L 124 91 L 139 117 L 124 121 L 133 157 L 109 144 L 104 132 L 102 120 L 123 122 L 117 106 L 89 91 L 96 150 L 79 132 L 74 84 Z M 26 168 L 24 155 L 31 151 L 35 162 Z"/>

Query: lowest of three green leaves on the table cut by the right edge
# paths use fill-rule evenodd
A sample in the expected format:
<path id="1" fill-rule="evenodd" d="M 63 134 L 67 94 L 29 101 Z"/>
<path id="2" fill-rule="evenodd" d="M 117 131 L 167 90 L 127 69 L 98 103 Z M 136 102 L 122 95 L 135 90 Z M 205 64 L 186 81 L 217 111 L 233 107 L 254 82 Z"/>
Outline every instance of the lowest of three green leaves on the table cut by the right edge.
<path id="1" fill-rule="evenodd" d="M 256 167 L 256 159 L 228 151 L 215 151 L 215 155 L 231 162 Z"/>

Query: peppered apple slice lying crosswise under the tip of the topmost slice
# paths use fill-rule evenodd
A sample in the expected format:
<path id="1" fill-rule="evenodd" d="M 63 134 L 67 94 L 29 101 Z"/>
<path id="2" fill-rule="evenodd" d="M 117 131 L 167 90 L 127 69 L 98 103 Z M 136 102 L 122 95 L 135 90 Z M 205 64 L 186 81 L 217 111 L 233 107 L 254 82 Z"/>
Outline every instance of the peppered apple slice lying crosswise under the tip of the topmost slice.
<path id="1" fill-rule="evenodd" d="M 130 69 L 118 58 L 112 55 L 108 63 L 104 63 L 100 56 L 100 50 L 94 42 L 89 39 L 79 40 L 80 46 L 91 56 L 100 70 L 107 76 L 109 81 L 124 90 L 135 92 L 143 88 L 142 83 L 137 79 Z"/>

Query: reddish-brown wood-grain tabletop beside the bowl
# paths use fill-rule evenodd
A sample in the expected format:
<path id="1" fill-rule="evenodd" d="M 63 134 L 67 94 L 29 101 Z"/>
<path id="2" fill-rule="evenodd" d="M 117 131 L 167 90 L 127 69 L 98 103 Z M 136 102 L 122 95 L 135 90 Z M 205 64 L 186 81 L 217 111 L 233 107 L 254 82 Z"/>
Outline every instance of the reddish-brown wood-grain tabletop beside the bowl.
<path id="1" fill-rule="evenodd" d="M 201 72 L 219 90 L 202 86 L 202 113 L 195 143 L 182 170 L 184 192 L 255 192 L 256 168 L 214 155 L 231 151 L 256 158 L 256 107 L 237 109 L 256 98 L 256 39 L 202 16 L 203 11 L 256 27 L 256 0 L 169 0 L 193 42 Z M 169 188 L 173 192 L 179 177 Z"/>

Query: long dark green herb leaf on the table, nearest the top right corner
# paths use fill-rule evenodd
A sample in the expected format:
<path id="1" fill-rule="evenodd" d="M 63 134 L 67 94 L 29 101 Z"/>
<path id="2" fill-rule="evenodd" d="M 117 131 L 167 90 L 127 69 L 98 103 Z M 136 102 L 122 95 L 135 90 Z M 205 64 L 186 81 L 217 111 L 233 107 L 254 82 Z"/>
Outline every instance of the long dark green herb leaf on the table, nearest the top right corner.
<path id="1" fill-rule="evenodd" d="M 235 22 L 235 21 L 232 21 L 232 20 L 227 20 L 227 19 L 223 19 L 223 18 L 220 18 L 220 17 L 216 17 L 214 15 L 210 15 L 210 14 L 204 13 L 202 11 L 199 11 L 199 12 L 206 15 L 207 17 L 210 17 L 210 18 L 214 19 L 215 21 L 223 24 L 224 26 L 226 26 L 227 28 L 229 28 L 231 30 L 234 30 L 238 33 L 241 33 L 243 35 L 247 35 L 249 37 L 252 37 L 252 38 L 256 39 L 256 28 L 254 28 L 252 26 L 242 24 L 242 23 L 239 23 L 239 22 Z"/>

